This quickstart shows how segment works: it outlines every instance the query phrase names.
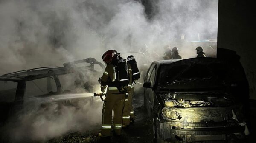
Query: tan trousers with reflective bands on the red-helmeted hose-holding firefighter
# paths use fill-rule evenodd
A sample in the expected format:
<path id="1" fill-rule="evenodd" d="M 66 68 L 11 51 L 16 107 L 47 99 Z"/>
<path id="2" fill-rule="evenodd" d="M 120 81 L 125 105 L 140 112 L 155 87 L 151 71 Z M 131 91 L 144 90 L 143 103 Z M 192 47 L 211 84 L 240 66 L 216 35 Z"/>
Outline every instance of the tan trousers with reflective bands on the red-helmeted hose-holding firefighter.
<path id="1" fill-rule="evenodd" d="M 118 90 L 108 90 L 102 108 L 102 135 L 111 135 L 112 110 L 114 110 L 113 127 L 116 135 L 121 134 L 122 110 L 125 102 L 125 93 Z"/>

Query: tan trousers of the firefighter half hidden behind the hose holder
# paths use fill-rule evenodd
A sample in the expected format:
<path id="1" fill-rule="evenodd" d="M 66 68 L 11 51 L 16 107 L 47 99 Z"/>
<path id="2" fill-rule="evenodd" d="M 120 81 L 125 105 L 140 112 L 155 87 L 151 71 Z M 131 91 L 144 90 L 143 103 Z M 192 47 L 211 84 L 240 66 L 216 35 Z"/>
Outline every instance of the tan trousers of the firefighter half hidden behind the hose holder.
<path id="1" fill-rule="evenodd" d="M 125 106 L 123 109 L 123 115 L 122 115 L 122 120 L 123 120 L 123 125 L 129 125 L 131 119 L 135 119 L 134 116 L 134 110 L 132 107 L 132 95 L 134 93 L 134 88 L 131 88 L 130 92 L 128 93 L 128 97 L 125 98 Z"/>

